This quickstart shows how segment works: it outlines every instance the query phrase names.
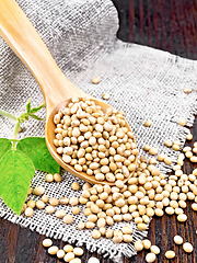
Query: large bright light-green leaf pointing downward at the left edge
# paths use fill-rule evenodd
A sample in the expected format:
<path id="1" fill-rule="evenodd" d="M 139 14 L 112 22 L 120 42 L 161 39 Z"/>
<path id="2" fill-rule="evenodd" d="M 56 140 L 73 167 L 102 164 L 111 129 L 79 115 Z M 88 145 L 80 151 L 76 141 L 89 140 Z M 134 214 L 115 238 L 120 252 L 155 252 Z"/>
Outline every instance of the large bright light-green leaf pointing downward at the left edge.
<path id="1" fill-rule="evenodd" d="M 9 150 L 0 160 L 0 196 L 20 215 L 35 168 L 27 156 Z"/>

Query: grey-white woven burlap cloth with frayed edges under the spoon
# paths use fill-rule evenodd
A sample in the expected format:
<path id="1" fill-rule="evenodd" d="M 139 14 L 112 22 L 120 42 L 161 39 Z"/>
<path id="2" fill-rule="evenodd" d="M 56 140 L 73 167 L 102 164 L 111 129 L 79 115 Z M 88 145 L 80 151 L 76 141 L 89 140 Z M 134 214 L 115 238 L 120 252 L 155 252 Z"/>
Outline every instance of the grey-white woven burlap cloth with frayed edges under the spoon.
<path id="1" fill-rule="evenodd" d="M 108 103 L 125 111 L 140 155 L 147 155 L 142 146 L 149 144 L 175 161 L 178 152 L 164 147 L 163 141 L 179 139 L 183 146 L 188 129 L 178 125 L 178 121 L 184 118 L 187 126 L 193 125 L 197 112 L 196 61 L 118 41 L 117 11 L 109 0 L 18 2 L 66 76 L 93 96 L 102 99 L 104 92 L 109 93 Z M 97 85 L 91 83 L 93 77 L 101 79 Z M 193 89 L 192 93 L 185 94 L 184 88 Z M 43 95 L 33 76 L 0 38 L 0 107 L 19 115 L 25 111 L 27 99 L 36 106 L 43 101 Z M 39 115 L 45 116 L 45 110 Z M 143 125 L 147 119 L 152 123 L 149 128 Z M 44 136 L 44 121 L 24 123 L 20 138 Z M 0 116 L 0 137 L 11 138 L 12 133 L 13 123 Z M 158 167 L 164 173 L 171 170 L 164 163 L 158 163 Z M 70 185 L 73 181 L 82 185 L 81 180 L 62 171 L 61 183 L 46 183 L 45 175 L 36 172 L 32 186 L 44 185 L 49 197 L 80 196 L 81 192 L 74 193 Z M 71 214 L 70 206 L 61 208 Z M 114 262 L 120 262 L 123 255 L 136 253 L 132 243 L 115 244 L 104 238 L 93 240 L 91 231 L 77 230 L 77 224 L 85 220 L 82 210 L 81 206 L 74 222 L 67 226 L 54 215 L 38 209 L 32 218 L 18 217 L 0 201 L 1 217 L 42 235 L 85 244 L 89 250 L 103 253 Z M 123 225 L 116 224 L 113 228 L 120 229 Z M 147 235 L 138 231 L 135 224 L 130 225 L 134 227 L 134 240 Z"/>

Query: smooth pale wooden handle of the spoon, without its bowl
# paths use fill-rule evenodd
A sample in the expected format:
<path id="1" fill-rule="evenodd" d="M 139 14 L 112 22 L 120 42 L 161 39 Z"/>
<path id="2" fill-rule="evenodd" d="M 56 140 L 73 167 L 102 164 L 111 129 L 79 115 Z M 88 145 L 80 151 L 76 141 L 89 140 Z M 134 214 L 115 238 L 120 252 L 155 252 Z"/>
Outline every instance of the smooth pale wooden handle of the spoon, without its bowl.
<path id="1" fill-rule="evenodd" d="M 58 68 L 14 0 L 0 0 L 0 35 L 35 77 L 46 100 L 48 114 L 61 101 L 84 94 Z"/>

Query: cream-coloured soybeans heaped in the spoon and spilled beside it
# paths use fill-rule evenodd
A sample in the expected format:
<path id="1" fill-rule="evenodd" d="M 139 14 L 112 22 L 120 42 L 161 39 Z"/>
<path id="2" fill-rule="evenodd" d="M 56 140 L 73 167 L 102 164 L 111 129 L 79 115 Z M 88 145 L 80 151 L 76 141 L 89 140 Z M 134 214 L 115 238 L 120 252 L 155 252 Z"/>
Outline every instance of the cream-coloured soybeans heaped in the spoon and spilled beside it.
<path id="1" fill-rule="evenodd" d="M 187 220 L 184 213 L 187 199 L 193 202 L 192 208 L 197 210 L 197 169 L 190 174 L 183 172 L 185 158 L 197 162 L 197 142 L 193 149 L 184 147 L 176 163 L 172 163 L 171 157 L 149 145 L 144 145 L 143 150 L 149 152 L 150 158 L 141 156 L 137 159 L 139 151 L 134 134 L 123 116 L 124 112 L 111 107 L 104 113 L 94 101 L 85 98 L 72 98 L 67 107 L 59 110 L 54 117 L 54 144 L 57 152 L 78 172 L 95 176 L 97 184 L 85 183 L 80 198 L 62 196 L 60 199 L 48 201 L 42 191 L 42 209 L 45 208 L 48 214 L 55 213 L 65 224 L 72 224 L 72 215 L 59 210 L 58 205 L 71 205 L 73 215 L 80 213 L 79 205 L 84 205 L 86 221 L 80 221 L 78 229 L 92 229 L 93 239 L 103 237 L 113 239 L 115 243 L 134 243 L 137 251 L 150 250 L 146 261 L 154 262 L 160 248 L 148 239 L 135 240 L 129 222 L 132 221 L 139 230 L 144 231 L 153 216 L 162 217 L 165 213 L 175 214 L 182 224 Z M 144 123 L 146 127 L 150 125 L 150 122 Z M 192 140 L 193 136 L 188 134 L 186 139 Z M 163 144 L 173 150 L 181 149 L 178 140 L 166 139 Z M 166 178 L 157 168 L 158 162 L 172 165 L 173 173 Z M 46 181 L 53 182 L 53 176 L 55 175 L 47 174 Z M 55 178 L 57 181 L 57 174 Z M 60 183 L 61 179 L 58 180 Z M 102 185 L 105 180 L 111 185 Z M 77 182 L 71 187 L 74 191 L 80 190 Z M 30 201 L 26 209 L 30 209 L 28 204 Z M 40 208 L 36 204 L 35 207 Z M 27 213 L 25 215 L 28 216 Z M 33 210 L 30 215 L 33 215 Z M 119 221 L 128 225 L 113 230 L 112 226 Z M 174 242 L 183 244 L 183 250 L 187 253 L 193 251 L 193 245 L 179 236 L 174 237 Z M 166 251 L 165 256 L 173 259 L 175 252 Z"/>

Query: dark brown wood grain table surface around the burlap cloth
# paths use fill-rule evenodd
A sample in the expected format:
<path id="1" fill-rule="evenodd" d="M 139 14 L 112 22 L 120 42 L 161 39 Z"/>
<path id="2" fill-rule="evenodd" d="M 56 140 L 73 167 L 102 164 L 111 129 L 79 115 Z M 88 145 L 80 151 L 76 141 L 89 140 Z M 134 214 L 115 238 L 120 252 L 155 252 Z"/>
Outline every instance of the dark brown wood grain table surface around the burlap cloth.
<path id="1" fill-rule="evenodd" d="M 118 37 L 126 42 L 151 46 L 167 50 L 172 54 L 197 59 L 197 0 L 113 0 L 118 10 L 120 26 Z M 197 141 L 197 118 L 190 129 L 194 139 L 186 145 Z M 184 172 L 189 174 L 196 164 L 186 161 Z M 184 224 L 176 221 L 175 216 L 164 215 L 153 218 L 150 224 L 148 237 L 153 244 L 161 248 L 157 262 L 196 263 L 197 262 L 197 214 L 192 210 L 190 204 L 186 208 L 188 220 Z M 194 252 L 186 254 L 182 247 L 175 245 L 173 237 L 181 235 L 185 241 L 194 245 Z M 4 219 L 0 219 L 0 263 L 55 263 L 62 262 L 49 256 L 43 248 L 45 237 L 28 228 L 21 228 Z M 55 244 L 62 247 L 60 240 Z M 174 250 L 176 258 L 166 260 L 164 252 Z M 92 255 L 84 248 L 82 262 L 88 262 Z M 147 251 L 137 256 L 125 259 L 124 263 L 144 263 Z M 112 263 L 102 255 L 94 254 L 100 262 Z"/>

